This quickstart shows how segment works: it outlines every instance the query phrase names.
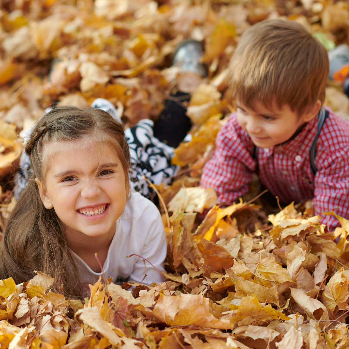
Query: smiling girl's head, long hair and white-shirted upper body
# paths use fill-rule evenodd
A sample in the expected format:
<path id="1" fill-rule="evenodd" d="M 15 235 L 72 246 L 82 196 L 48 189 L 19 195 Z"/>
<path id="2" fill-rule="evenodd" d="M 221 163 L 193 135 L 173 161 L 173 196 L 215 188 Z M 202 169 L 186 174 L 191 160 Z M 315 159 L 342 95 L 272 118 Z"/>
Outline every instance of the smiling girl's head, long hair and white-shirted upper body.
<path id="1" fill-rule="evenodd" d="M 54 277 L 54 289 L 82 297 L 102 275 L 160 281 L 166 239 L 159 211 L 130 193 L 122 125 L 100 109 L 58 107 L 35 125 L 25 147 L 32 174 L 4 229 L 0 278 Z"/>

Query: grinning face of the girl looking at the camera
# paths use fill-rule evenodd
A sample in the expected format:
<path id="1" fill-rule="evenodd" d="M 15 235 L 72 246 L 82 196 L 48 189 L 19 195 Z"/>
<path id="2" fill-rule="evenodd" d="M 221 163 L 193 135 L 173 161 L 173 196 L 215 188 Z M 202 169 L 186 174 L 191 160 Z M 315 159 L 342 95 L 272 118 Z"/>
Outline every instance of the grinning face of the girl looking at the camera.
<path id="1" fill-rule="evenodd" d="M 54 209 L 67 238 L 113 233 L 126 205 L 125 171 L 116 151 L 84 138 L 50 142 L 46 183 L 36 179 L 44 206 Z"/>

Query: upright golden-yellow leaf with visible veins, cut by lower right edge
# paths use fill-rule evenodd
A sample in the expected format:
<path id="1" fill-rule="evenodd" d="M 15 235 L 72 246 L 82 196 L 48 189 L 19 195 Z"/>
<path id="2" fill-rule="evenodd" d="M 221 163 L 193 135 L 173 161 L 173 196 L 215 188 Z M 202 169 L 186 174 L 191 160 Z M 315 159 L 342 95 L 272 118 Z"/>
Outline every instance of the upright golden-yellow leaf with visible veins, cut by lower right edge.
<path id="1" fill-rule="evenodd" d="M 331 277 L 321 296 L 321 302 L 326 306 L 331 319 L 335 319 L 339 310 L 349 310 L 348 297 L 348 280 L 344 268 L 341 268 Z"/>

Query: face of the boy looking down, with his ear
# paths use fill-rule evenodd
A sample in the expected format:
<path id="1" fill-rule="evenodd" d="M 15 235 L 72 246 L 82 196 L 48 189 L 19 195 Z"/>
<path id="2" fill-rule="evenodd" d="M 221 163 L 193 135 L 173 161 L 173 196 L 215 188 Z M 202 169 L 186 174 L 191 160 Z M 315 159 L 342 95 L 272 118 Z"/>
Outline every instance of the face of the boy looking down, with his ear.
<path id="1" fill-rule="evenodd" d="M 317 115 L 321 102 L 318 100 L 300 117 L 287 104 L 279 109 L 276 103 L 273 103 L 272 107 L 267 109 L 262 103 L 256 101 L 252 110 L 237 100 L 236 106 L 238 122 L 253 143 L 260 148 L 271 148 L 286 142 L 299 132 L 305 122 Z"/>

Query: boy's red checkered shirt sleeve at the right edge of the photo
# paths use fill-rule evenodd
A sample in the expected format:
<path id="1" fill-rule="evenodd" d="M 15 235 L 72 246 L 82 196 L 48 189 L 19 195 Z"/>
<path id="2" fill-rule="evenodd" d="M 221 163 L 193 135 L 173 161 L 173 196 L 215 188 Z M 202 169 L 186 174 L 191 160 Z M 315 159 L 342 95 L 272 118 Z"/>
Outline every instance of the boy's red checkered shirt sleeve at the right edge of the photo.
<path id="1" fill-rule="evenodd" d="M 317 214 L 334 211 L 349 219 L 349 146 L 332 151 L 315 175 L 314 209 Z M 322 224 L 330 231 L 340 227 L 335 216 L 325 216 Z"/>

